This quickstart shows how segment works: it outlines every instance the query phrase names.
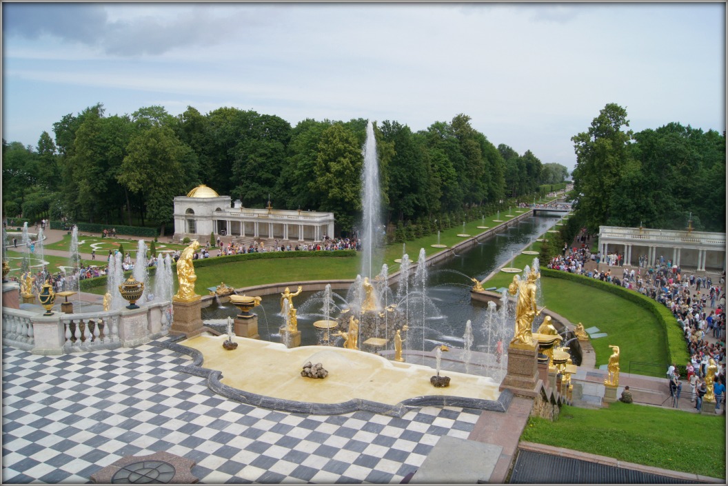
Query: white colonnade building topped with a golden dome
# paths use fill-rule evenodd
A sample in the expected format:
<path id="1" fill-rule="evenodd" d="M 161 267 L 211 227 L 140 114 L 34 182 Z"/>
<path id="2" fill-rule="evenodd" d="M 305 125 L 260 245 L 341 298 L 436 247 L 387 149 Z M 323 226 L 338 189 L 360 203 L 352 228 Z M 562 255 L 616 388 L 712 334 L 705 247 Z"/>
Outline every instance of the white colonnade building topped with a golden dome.
<path id="1" fill-rule="evenodd" d="M 320 242 L 323 236 L 333 236 L 333 212 L 274 210 L 270 202 L 265 209 L 251 209 L 242 207 L 240 199 L 231 201 L 204 184 L 175 197 L 173 239 L 187 236 L 207 242 L 214 234 Z"/>

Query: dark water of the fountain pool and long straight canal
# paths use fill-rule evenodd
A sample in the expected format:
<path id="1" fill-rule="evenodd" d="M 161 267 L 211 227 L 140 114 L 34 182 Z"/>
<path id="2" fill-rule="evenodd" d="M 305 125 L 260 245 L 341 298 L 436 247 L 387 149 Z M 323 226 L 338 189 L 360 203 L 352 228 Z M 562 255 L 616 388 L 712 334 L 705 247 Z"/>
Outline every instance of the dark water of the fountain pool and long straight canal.
<path id="1" fill-rule="evenodd" d="M 424 329 L 422 317 L 415 316 L 410 322 L 411 335 L 416 339 L 408 339 L 411 349 L 431 351 L 439 344 L 454 348 L 462 348 L 465 323 L 470 319 L 473 332 L 473 350 L 492 352 L 495 342 L 488 342 L 486 332 L 486 306 L 470 302 L 470 278 L 482 280 L 502 264 L 510 261 L 526 245 L 533 242 L 540 234 L 558 220 L 554 217 L 536 216 L 526 218 L 521 223 L 503 231 L 501 234 L 480 239 L 481 244 L 470 250 L 448 258 L 428 268 L 427 296 L 438 308 L 439 314 L 425 316 Z M 414 273 L 414 272 L 411 272 Z M 392 289 L 395 290 L 395 289 Z M 339 308 L 345 305 L 347 290 L 334 290 L 333 300 Z M 323 291 L 302 292 L 294 299 L 298 309 L 298 330 L 301 331 L 301 344 L 312 345 L 319 342 L 318 331 L 313 323 L 325 319 L 323 311 Z M 266 295 L 261 306 L 253 309 L 258 314 L 258 333 L 261 339 L 280 343 L 280 327 L 285 319 L 280 313 L 280 295 Z M 237 314 L 233 306 L 218 307 L 215 303 L 202 309 L 205 325 L 223 330 L 227 316 Z M 421 314 L 421 313 L 420 313 Z M 506 323 L 505 325 L 512 325 Z M 336 341 L 341 346 L 341 338 Z M 391 348 L 391 344 L 388 348 Z"/>

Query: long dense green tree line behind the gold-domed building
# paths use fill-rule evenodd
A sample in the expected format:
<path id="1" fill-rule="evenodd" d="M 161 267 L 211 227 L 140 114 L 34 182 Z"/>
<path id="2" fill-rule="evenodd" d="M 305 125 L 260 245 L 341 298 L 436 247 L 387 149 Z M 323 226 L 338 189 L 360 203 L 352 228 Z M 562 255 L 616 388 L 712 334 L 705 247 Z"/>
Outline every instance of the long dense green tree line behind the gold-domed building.
<path id="1" fill-rule="evenodd" d="M 3 140 L 5 215 L 66 217 L 91 223 L 172 221 L 173 198 L 199 183 L 240 199 L 282 209 L 331 211 L 339 231 L 360 215 L 360 173 L 367 120 L 305 119 L 188 107 L 172 116 L 161 106 L 106 116 L 100 103 L 53 125 L 38 146 Z M 532 200 L 541 184 L 568 171 L 526 151 L 497 148 L 470 117 L 412 132 L 384 121 L 375 127 L 387 223 L 424 231 L 452 220 Z M 432 226 L 432 228 L 430 228 Z"/>

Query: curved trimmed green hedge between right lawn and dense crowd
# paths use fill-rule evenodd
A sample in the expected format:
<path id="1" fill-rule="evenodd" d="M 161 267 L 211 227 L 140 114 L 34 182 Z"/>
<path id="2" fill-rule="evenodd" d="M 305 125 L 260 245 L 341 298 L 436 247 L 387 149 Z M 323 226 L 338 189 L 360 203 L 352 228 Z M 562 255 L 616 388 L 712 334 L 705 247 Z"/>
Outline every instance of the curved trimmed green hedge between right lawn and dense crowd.
<path id="1" fill-rule="evenodd" d="M 662 328 L 665 332 L 660 334 L 662 344 L 668 351 L 668 359 L 670 363 L 689 362 L 690 356 L 685 344 L 685 338 L 683 337 L 683 331 L 677 323 L 677 319 L 675 319 L 675 316 L 673 316 L 672 312 L 670 312 L 667 307 L 663 306 L 656 300 L 652 300 L 639 292 L 625 289 L 619 285 L 602 282 L 601 280 L 593 279 L 588 276 L 570 274 L 567 271 L 553 270 L 552 268 L 542 266 L 541 274 L 555 279 L 570 280 L 571 282 L 576 282 L 578 284 L 590 285 L 591 287 L 604 290 L 605 292 L 611 292 L 614 295 L 636 303 L 638 306 L 641 306 L 655 316 L 657 318 L 657 322 L 662 323 Z"/>

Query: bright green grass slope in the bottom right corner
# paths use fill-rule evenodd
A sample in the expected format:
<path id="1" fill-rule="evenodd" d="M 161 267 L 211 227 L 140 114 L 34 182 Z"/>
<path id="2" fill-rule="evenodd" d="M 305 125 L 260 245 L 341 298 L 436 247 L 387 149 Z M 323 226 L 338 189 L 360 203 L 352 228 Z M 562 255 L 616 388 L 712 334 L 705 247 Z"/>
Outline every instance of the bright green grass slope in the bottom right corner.
<path id="1" fill-rule="evenodd" d="M 725 415 L 615 402 L 591 410 L 561 407 L 558 421 L 531 417 L 521 440 L 620 461 L 725 478 Z"/>

